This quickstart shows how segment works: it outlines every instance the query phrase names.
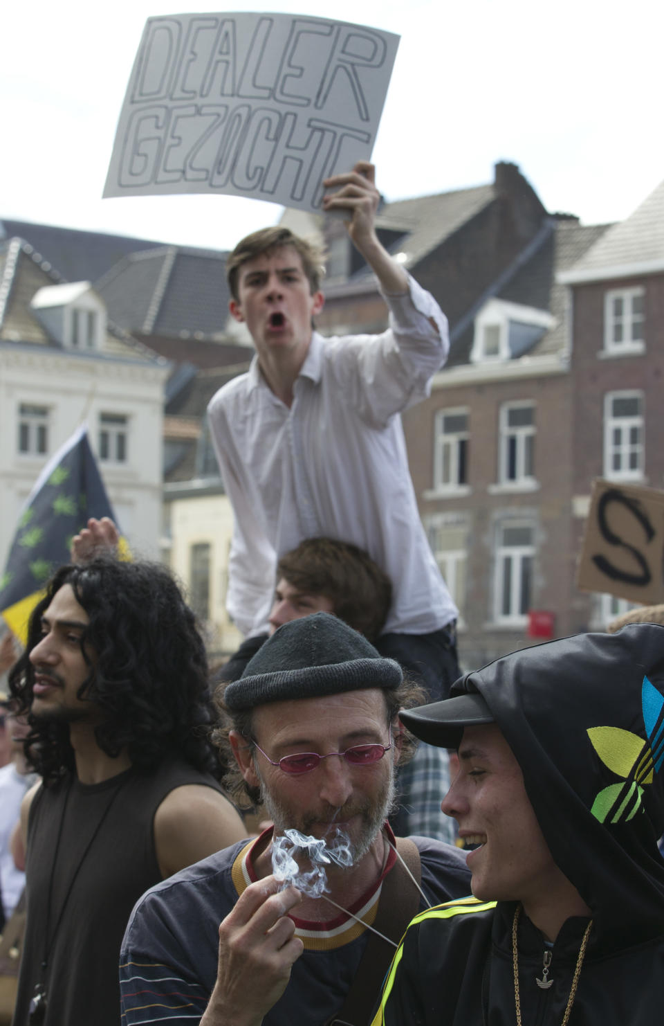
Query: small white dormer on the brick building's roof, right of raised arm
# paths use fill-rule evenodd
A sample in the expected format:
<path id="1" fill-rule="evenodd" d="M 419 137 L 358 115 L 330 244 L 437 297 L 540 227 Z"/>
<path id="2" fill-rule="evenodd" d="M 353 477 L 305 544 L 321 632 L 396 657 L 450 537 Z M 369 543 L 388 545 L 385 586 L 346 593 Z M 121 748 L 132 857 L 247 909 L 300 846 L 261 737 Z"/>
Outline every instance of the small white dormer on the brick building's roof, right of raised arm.
<path id="1" fill-rule="evenodd" d="M 470 359 L 473 363 L 515 359 L 554 326 L 555 318 L 547 310 L 489 300 L 475 317 Z"/>

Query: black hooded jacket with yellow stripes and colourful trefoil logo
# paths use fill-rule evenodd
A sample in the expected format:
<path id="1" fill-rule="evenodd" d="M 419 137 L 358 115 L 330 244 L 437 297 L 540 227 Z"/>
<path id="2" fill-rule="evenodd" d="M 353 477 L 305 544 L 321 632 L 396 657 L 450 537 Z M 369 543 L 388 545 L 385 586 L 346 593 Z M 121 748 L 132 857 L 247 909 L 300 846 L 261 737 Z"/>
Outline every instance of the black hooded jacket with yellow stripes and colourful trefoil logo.
<path id="1" fill-rule="evenodd" d="M 467 692 L 487 702 L 553 860 L 592 912 L 569 1026 L 662 1022 L 664 627 L 634 624 L 527 648 L 467 674 L 452 697 Z M 417 916 L 374 1026 L 514 1026 L 515 908 L 468 899 Z M 547 949 L 522 912 L 524 1026 L 563 1023 L 587 924 L 568 919 Z M 543 989 L 537 979 L 552 983 Z"/>

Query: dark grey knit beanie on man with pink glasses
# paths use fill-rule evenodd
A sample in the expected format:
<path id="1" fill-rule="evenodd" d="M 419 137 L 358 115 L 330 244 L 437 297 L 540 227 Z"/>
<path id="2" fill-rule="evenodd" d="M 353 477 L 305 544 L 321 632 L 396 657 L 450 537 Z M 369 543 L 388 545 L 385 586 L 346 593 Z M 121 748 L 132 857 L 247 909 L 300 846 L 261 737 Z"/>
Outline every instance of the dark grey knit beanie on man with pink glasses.
<path id="1" fill-rule="evenodd" d="M 362 634 L 330 613 L 315 613 L 275 631 L 226 686 L 223 704 L 239 712 L 365 687 L 393 690 L 403 679 L 399 663 L 383 659 Z"/>

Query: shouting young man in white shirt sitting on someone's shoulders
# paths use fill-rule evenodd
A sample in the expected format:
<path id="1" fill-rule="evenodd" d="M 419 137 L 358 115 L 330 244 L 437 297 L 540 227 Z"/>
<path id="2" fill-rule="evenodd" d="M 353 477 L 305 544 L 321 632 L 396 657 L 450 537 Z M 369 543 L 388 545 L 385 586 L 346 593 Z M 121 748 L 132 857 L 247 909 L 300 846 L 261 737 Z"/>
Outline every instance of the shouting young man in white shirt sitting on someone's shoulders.
<path id="1" fill-rule="evenodd" d="M 229 258 L 231 314 L 256 355 L 209 405 L 235 514 L 227 604 L 245 635 L 264 633 L 277 560 L 306 538 L 351 542 L 392 584 L 378 650 L 434 699 L 458 676 L 457 610 L 420 522 L 400 415 L 428 394 L 448 326 L 378 239 L 374 176 L 360 162 L 328 179 L 323 206 L 347 216 L 389 307 L 386 331 L 323 339 L 314 330 L 325 302 L 321 254 L 286 229 L 254 233 Z"/>

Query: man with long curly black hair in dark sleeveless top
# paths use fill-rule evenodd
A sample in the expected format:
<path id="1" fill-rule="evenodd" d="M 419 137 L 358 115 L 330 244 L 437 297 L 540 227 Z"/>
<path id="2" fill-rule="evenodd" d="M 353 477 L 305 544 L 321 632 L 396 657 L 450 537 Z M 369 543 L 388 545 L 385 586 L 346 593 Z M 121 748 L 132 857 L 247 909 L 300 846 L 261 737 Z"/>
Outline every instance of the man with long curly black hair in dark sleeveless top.
<path id="1" fill-rule="evenodd" d="M 116 1026 L 136 899 L 246 833 L 216 779 L 203 639 L 165 567 L 97 557 L 51 579 L 9 681 L 42 778 L 14 1024 Z"/>

